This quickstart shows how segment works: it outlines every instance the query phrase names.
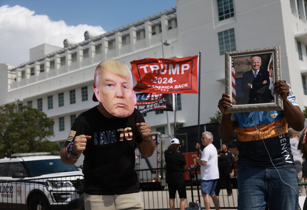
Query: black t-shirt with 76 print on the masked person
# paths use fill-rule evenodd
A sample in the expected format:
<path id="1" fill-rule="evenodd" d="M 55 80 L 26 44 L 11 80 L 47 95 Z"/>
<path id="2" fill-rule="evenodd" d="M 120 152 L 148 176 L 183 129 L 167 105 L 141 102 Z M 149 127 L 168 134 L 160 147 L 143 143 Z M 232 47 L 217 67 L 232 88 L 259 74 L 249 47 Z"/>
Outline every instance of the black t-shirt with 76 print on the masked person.
<path id="1" fill-rule="evenodd" d="M 89 135 L 83 151 L 83 191 L 90 195 L 120 195 L 139 192 L 135 172 L 136 143 L 142 142 L 137 122 L 145 122 L 134 110 L 129 117 L 106 118 L 94 107 L 80 114 L 65 143 Z"/>

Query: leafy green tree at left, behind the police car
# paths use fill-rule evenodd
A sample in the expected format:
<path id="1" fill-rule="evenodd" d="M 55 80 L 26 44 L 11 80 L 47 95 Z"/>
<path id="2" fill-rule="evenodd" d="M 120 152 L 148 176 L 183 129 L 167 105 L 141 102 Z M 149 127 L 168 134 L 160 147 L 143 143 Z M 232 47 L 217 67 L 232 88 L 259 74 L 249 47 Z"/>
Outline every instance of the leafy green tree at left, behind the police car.
<path id="1" fill-rule="evenodd" d="M 10 157 L 13 153 L 51 152 L 60 146 L 48 139 L 53 131 L 48 128 L 54 121 L 37 109 L 15 104 L 0 107 L 0 158 Z"/>

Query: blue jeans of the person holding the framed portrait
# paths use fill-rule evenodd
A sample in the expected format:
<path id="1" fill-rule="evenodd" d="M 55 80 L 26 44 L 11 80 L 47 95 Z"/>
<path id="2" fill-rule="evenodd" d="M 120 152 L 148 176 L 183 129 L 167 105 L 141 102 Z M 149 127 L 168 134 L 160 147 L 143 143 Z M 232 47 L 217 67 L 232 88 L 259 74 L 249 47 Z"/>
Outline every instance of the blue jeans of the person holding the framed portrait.
<path id="1" fill-rule="evenodd" d="M 298 185 L 295 168 L 261 169 L 240 166 L 237 170 L 238 210 L 298 209 Z"/>

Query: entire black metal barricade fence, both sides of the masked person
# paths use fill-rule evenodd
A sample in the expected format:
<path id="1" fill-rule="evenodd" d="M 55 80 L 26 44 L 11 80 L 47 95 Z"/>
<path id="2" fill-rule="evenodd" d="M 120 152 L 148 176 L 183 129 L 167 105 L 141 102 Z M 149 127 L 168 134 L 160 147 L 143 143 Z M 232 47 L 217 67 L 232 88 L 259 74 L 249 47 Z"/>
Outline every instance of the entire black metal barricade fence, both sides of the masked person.
<path id="1" fill-rule="evenodd" d="M 194 170 L 194 169 L 193 169 Z M 199 187 L 200 180 L 195 171 L 190 173 L 187 183 L 186 205 L 198 200 L 204 207 Z M 198 170 L 199 171 L 199 170 Z M 165 181 L 165 168 L 137 170 L 140 192 L 145 209 L 169 209 L 169 195 Z M 20 178 L 19 178 L 20 179 Z M 83 176 L 48 177 L 0 182 L 0 209 L 80 209 L 84 207 Z M 220 208 L 237 207 L 237 189 L 228 196 L 226 189 L 218 196 Z M 82 196 L 81 199 L 79 199 Z M 79 203 L 78 203 L 79 202 Z M 180 199 L 176 195 L 175 207 L 179 209 Z M 213 202 L 211 200 L 211 207 Z"/>

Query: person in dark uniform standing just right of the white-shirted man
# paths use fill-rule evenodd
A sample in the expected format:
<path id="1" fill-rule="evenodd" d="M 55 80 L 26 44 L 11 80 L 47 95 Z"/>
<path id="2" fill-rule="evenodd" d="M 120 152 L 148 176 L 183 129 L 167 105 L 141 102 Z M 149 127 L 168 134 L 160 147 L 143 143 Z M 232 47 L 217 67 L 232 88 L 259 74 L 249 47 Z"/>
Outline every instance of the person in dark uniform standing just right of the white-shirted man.
<path id="1" fill-rule="evenodd" d="M 227 195 L 231 196 L 232 187 L 230 176 L 234 176 L 234 158 L 232 153 L 228 150 L 228 145 L 226 143 L 222 143 L 222 150 L 217 153 L 217 157 L 218 173 L 220 174 L 220 178 L 217 180 L 215 193 L 218 196 L 223 183 L 225 183 Z"/>

